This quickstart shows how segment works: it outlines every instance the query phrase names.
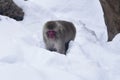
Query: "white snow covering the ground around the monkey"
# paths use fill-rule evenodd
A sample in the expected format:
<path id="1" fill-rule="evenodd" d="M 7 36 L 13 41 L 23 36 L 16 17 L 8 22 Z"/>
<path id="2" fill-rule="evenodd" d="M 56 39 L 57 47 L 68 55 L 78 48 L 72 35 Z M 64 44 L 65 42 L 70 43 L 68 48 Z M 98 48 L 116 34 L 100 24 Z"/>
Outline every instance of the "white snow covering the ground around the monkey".
<path id="1" fill-rule="evenodd" d="M 0 16 L 0 80 L 120 80 L 120 34 L 107 42 L 98 0 L 14 0 L 25 18 Z M 77 34 L 67 55 L 45 49 L 43 25 L 68 20 Z"/>

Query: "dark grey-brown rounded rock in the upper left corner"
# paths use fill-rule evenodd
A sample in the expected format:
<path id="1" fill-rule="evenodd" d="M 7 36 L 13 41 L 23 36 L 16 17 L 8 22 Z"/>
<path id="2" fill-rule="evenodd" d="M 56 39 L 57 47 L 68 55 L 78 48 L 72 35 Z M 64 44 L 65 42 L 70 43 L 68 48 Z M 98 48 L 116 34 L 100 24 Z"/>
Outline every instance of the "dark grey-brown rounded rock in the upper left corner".
<path id="1" fill-rule="evenodd" d="M 0 0 L 0 15 L 8 16 L 17 21 L 21 21 L 24 18 L 23 10 L 13 0 Z"/>

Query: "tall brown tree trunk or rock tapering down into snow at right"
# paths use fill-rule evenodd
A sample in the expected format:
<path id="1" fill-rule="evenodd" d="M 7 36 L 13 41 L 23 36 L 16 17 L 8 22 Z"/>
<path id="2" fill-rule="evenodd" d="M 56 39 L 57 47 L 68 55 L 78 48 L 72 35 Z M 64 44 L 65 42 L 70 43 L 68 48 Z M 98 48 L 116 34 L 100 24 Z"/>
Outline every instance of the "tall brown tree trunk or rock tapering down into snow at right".
<path id="1" fill-rule="evenodd" d="M 107 26 L 108 41 L 120 33 L 120 0 L 100 0 Z"/>

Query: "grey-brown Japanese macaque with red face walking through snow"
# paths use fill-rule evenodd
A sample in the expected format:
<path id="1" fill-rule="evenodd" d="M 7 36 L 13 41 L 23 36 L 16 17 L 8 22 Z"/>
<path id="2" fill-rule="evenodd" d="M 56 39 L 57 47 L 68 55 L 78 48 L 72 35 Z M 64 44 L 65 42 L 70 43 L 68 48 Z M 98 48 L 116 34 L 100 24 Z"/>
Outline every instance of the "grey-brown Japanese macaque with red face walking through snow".
<path id="1" fill-rule="evenodd" d="M 68 21 L 48 21 L 43 28 L 43 39 L 46 48 L 66 55 L 69 42 L 74 40 L 76 29 Z"/>

